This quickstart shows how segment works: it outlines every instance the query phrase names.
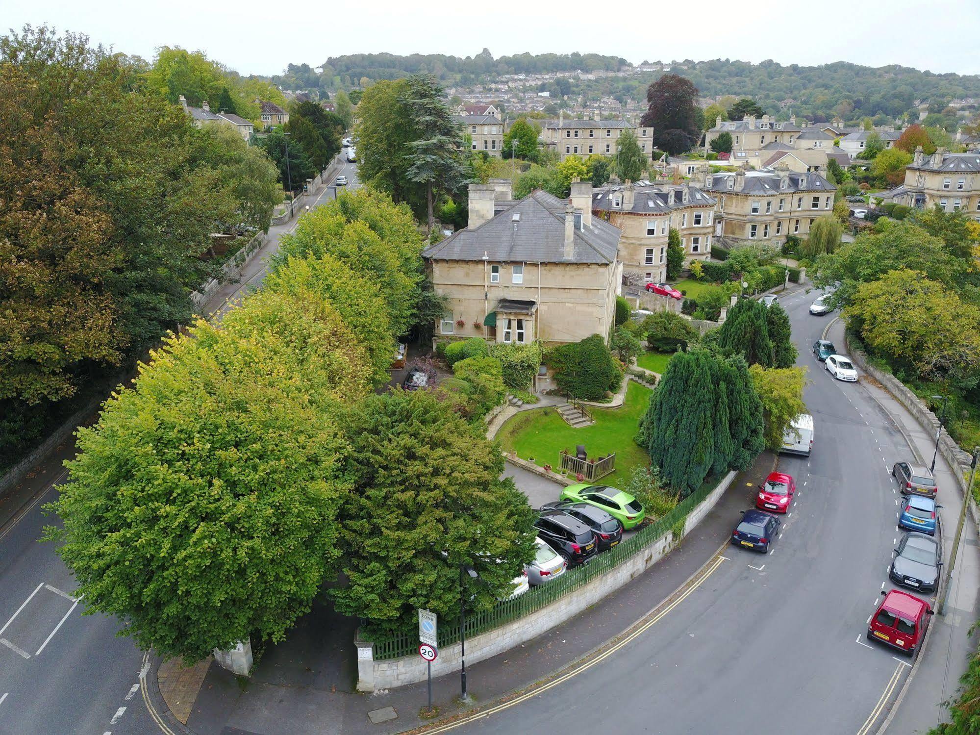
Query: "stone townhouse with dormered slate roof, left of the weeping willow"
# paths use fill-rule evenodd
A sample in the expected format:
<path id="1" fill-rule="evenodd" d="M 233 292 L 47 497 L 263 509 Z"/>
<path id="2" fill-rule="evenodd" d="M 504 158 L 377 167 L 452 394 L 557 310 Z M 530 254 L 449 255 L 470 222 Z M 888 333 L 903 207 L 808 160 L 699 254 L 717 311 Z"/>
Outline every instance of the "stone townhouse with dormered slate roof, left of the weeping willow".
<path id="1" fill-rule="evenodd" d="M 705 173 L 705 190 L 716 200 L 714 234 L 730 244 L 806 237 L 818 217 L 832 214 L 837 189 L 822 172 L 773 170 Z"/>

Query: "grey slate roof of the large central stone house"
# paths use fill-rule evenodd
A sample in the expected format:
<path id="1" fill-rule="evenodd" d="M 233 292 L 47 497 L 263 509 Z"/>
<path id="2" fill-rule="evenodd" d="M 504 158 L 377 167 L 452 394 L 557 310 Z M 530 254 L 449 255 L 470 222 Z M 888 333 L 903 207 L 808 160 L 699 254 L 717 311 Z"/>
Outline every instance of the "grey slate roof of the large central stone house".
<path id="1" fill-rule="evenodd" d="M 461 229 L 422 251 L 430 260 L 479 261 L 486 255 L 504 263 L 615 263 L 619 228 L 598 217 L 575 229 L 564 244 L 566 202 L 536 189 L 513 207 L 474 229 Z"/>

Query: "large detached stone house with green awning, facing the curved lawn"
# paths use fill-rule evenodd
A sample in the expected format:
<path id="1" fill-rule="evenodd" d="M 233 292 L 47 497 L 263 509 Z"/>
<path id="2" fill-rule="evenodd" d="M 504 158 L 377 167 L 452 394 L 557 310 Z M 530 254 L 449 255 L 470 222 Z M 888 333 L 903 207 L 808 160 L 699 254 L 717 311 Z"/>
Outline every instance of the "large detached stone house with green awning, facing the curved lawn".
<path id="1" fill-rule="evenodd" d="M 577 342 L 608 339 L 621 282 L 619 230 L 536 190 L 511 201 L 509 181 L 470 184 L 469 221 L 422 252 L 448 299 L 440 339 Z"/>

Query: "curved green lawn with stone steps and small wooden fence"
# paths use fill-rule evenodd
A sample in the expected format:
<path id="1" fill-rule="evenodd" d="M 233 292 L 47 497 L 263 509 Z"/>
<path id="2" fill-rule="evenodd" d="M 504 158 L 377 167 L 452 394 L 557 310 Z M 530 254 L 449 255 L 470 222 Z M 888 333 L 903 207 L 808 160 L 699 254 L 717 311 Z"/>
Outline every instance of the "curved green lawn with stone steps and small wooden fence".
<path id="1" fill-rule="evenodd" d="M 497 437 L 504 449 L 515 450 L 522 460 L 534 459 L 540 466 L 561 466 L 559 453 L 563 449 L 575 451 L 576 444 L 584 444 L 589 457 L 615 452 L 616 469 L 602 478 L 603 483 L 622 487 L 635 466 L 650 463 L 647 453 L 633 441 L 639 430 L 640 417 L 647 410 L 653 391 L 637 382 L 630 381 L 626 388 L 626 400 L 618 409 L 589 411 L 596 422 L 583 428 L 572 428 L 552 407 L 522 411 L 509 419 Z"/>

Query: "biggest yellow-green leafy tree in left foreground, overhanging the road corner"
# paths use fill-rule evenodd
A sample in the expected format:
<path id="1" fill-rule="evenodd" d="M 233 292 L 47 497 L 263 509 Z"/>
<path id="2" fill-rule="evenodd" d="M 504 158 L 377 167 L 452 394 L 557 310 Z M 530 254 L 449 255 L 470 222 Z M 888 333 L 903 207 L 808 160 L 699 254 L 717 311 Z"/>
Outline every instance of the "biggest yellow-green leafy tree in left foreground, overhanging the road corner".
<path id="1" fill-rule="evenodd" d="M 283 361 L 295 338 L 311 359 Z M 250 636 L 281 640 L 309 611 L 340 556 L 348 492 L 335 401 L 309 386 L 338 377 L 319 355 L 350 340 L 335 313 L 302 302 L 287 319 L 200 321 L 78 430 L 71 482 L 50 506 L 64 528 L 48 536 L 90 611 L 187 662 Z"/>

